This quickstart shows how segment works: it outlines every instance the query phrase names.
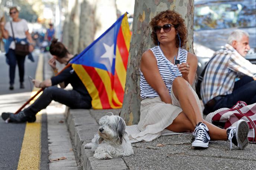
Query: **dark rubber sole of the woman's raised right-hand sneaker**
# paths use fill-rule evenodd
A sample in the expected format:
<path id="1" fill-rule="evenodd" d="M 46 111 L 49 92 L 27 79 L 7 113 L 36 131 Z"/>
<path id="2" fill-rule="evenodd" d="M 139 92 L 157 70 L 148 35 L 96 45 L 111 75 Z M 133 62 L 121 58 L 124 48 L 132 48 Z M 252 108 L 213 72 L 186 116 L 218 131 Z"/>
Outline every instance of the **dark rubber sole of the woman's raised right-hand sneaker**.
<path id="1" fill-rule="evenodd" d="M 244 150 L 247 147 L 249 133 L 249 125 L 244 120 L 239 120 L 236 125 L 236 138 L 237 138 L 237 147 L 240 150 Z"/>

